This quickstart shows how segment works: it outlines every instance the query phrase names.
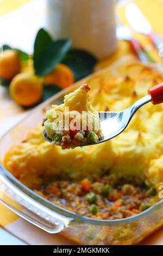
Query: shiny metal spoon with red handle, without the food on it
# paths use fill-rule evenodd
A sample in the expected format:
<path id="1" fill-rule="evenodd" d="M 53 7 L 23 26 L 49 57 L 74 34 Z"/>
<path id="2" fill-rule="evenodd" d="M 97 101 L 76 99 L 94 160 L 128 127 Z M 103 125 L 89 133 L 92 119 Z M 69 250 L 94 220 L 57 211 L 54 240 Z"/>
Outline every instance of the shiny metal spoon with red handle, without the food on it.
<path id="1" fill-rule="evenodd" d="M 114 138 L 122 131 L 124 131 L 124 129 L 126 129 L 136 111 L 150 101 L 152 101 L 154 105 L 163 102 L 163 83 L 158 84 L 157 86 L 154 86 L 153 88 L 149 89 L 148 95 L 135 101 L 133 105 L 131 105 L 127 109 L 124 109 L 123 111 L 99 112 L 103 138 L 101 141 L 98 141 L 97 143 L 93 144 L 108 141 L 108 139 Z M 46 141 L 52 142 L 52 140 L 47 136 L 45 130 L 43 131 L 43 137 L 46 139 Z M 83 147 L 86 145 L 83 145 Z"/>

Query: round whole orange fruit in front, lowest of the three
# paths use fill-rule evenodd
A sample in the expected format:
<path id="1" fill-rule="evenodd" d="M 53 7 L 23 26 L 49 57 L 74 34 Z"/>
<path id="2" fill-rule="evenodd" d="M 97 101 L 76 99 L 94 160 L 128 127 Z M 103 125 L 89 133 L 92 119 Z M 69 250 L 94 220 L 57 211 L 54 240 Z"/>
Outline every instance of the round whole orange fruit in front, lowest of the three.
<path id="1" fill-rule="evenodd" d="M 10 95 L 18 105 L 32 106 L 40 101 L 42 97 L 42 83 L 37 76 L 26 73 L 16 75 L 10 83 Z"/>

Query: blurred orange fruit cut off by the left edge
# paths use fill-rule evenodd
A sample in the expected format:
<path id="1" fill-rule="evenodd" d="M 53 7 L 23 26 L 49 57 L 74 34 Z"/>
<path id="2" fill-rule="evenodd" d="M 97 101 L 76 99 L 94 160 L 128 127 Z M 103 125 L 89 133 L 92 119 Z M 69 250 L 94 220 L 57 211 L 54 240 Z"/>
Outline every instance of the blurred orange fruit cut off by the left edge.
<path id="1" fill-rule="evenodd" d="M 0 77 L 11 80 L 21 70 L 21 60 L 14 50 L 5 50 L 0 57 Z"/>

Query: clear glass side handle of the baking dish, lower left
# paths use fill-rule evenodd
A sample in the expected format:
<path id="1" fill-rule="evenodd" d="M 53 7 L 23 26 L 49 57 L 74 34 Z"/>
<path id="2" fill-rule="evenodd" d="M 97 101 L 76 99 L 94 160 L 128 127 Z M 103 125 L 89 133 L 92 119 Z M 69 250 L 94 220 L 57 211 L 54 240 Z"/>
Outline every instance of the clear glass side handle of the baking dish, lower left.
<path id="1" fill-rule="evenodd" d="M 10 180 L 4 178 L 1 172 L 0 202 L 24 220 L 51 234 L 59 233 L 72 222 L 72 218 L 62 216 L 35 202 L 27 194 L 18 190 L 14 184 L 10 184 Z"/>

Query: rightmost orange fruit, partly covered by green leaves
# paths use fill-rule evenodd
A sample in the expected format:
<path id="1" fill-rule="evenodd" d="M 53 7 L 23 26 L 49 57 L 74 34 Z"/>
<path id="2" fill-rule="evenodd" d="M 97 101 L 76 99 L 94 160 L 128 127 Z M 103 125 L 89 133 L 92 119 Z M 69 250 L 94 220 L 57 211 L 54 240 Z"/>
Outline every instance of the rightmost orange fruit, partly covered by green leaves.
<path id="1" fill-rule="evenodd" d="M 73 73 L 68 66 L 59 63 L 55 69 L 43 78 L 44 84 L 57 84 L 61 88 L 66 88 L 74 82 Z"/>

